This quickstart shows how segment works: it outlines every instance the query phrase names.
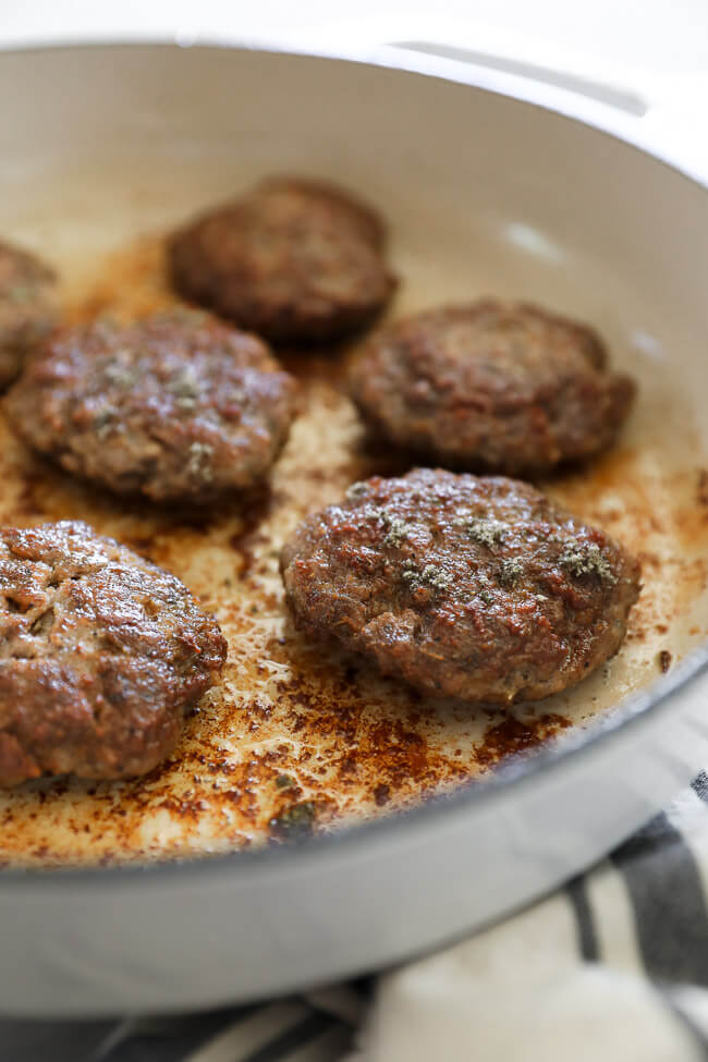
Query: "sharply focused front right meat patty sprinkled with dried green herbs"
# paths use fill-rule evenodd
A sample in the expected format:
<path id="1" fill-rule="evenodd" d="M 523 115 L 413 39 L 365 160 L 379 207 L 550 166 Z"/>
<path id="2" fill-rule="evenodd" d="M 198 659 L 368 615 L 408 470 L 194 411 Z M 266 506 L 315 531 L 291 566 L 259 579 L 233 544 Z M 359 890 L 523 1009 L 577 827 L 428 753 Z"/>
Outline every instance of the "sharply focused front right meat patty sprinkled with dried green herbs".
<path id="1" fill-rule="evenodd" d="M 288 599 L 427 694 L 508 705 L 617 652 L 639 564 L 528 484 L 418 468 L 354 484 L 281 556 Z"/>

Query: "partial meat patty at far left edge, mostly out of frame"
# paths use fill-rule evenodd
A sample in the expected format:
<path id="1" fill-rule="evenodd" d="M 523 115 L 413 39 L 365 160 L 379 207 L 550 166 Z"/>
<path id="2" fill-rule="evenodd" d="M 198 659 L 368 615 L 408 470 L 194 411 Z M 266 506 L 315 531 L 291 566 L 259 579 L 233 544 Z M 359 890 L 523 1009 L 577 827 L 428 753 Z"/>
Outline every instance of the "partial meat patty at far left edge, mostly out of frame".
<path id="1" fill-rule="evenodd" d="M 0 389 L 57 319 L 57 277 L 35 255 L 0 242 Z"/>

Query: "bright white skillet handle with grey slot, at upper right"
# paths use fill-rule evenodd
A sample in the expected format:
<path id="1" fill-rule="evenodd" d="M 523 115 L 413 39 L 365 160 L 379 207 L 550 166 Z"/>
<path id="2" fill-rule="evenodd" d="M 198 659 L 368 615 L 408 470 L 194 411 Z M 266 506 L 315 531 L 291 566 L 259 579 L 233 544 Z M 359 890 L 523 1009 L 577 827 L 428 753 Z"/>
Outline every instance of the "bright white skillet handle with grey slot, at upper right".
<path id="1" fill-rule="evenodd" d="M 699 36 L 703 26 L 697 27 Z M 338 17 L 319 27 L 309 24 L 301 44 L 307 52 L 314 49 L 335 58 L 365 59 L 443 77 L 464 80 L 472 71 L 475 84 L 484 88 L 516 95 L 599 125 L 708 182 L 708 71 L 700 68 L 691 39 L 678 49 L 674 35 L 669 45 L 679 51 L 679 59 L 672 59 L 670 52 L 667 58 L 663 49 L 661 61 L 652 62 L 650 50 L 642 46 L 638 36 L 635 45 L 626 26 L 620 25 L 619 36 L 611 41 L 614 47 L 605 52 L 597 34 L 588 48 L 579 51 L 526 29 L 514 30 L 509 25 L 498 28 L 469 19 L 447 17 L 441 12 L 411 13 L 405 20 L 400 13 L 379 12 L 375 17 Z M 656 24 L 651 33 L 655 37 L 659 33 Z M 293 40 L 289 34 L 289 38 L 290 45 L 296 42 L 296 36 Z M 655 53 L 657 47 L 655 40 Z M 606 52 L 612 51 L 622 56 L 621 63 L 608 60 Z M 660 70 L 652 69 L 659 65 Z"/>

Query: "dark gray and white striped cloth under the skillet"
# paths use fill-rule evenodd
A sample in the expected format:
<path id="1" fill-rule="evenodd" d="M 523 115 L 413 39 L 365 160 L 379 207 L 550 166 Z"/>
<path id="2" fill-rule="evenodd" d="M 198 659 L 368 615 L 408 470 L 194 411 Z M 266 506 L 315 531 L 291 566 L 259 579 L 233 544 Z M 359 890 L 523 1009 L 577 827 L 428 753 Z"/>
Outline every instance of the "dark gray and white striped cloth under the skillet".
<path id="1" fill-rule="evenodd" d="M 463 943 L 179 1018 L 0 1022 L 2 1062 L 708 1059 L 708 774 L 603 863 Z"/>

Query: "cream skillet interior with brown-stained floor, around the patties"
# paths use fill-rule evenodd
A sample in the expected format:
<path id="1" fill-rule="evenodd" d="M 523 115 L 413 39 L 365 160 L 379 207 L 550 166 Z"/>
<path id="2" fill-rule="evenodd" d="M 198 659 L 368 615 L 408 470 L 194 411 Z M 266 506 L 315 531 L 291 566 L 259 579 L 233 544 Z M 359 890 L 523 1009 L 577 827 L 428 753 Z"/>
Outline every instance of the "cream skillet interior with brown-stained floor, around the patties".
<path id="1" fill-rule="evenodd" d="M 620 445 L 541 486 L 634 550 L 645 588 L 620 655 L 573 691 L 513 712 L 435 703 L 308 644 L 283 606 L 277 556 L 295 523 L 354 479 L 408 467 L 367 447 L 342 393 L 356 341 L 279 352 L 301 380 L 303 412 L 270 489 L 210 512 L 115 501 L 72 481 L 28 454 L 2 416 L 0 520 L 88 521 L 178 574 L 217 614 L 230 646 L 221 685 L 158 770 L 118 784 L 41 782 L 0 794 L 8 866 L 223 853 L 263 844 L 293 804 L 312 804 L 316 828 L 329 830 L 484 784 L 510 757 L 591 727 L 707 633 L 707 326 L 693 186 L 556 115 L 536 112 L 532 133 L 528 109 L 501 99 L 476 108 L 463 86 L 447 85 L 436 99 L 436 83 L 416 96 L 411 75 L 406 89 L 390 71 L 324 64 L 331 93 L 322 93 L 302 60 L 216 52 L 207 63 L 197 49 L 184 53 L 184 82 L 167 94 L 160 50 L 151 64 L 134 51 L 132 76 L 119 84 L 85 53 L 90 101 L 61 53 L 42 56 L 20 103 L 26 120 L 15 115 L 2 130 L 10 162 L 0 231 L 56 263 L 68 320 L 171 304 L 164 234 L 261 174 L 339 181 L 390 221 L 402 279 L 390 316 L 487 293 L 536 300 L 594 324 L 614 365 L 637 377 Z M 276 58 L 292 94 L 278 88 Z M 22 99 L 12 66 L 3 57 L 0 84 L 8 77 Z M 64 90 L 53 98 L 58 73 Z M 371 100 L 383 89 L 389 102 L 377 110 Z M 429 119 L 443 103 L 449 122 L 432 127 L 427 110 Z M 475 135 L 461 143 L 455 122 L 472 123 Z M 645 182 L 630 205 L 614 176 L 620 162 L 630 183 Z M 676 207 L 667 228 L 654 200 L 682 190 L 686 213 Z"/>

